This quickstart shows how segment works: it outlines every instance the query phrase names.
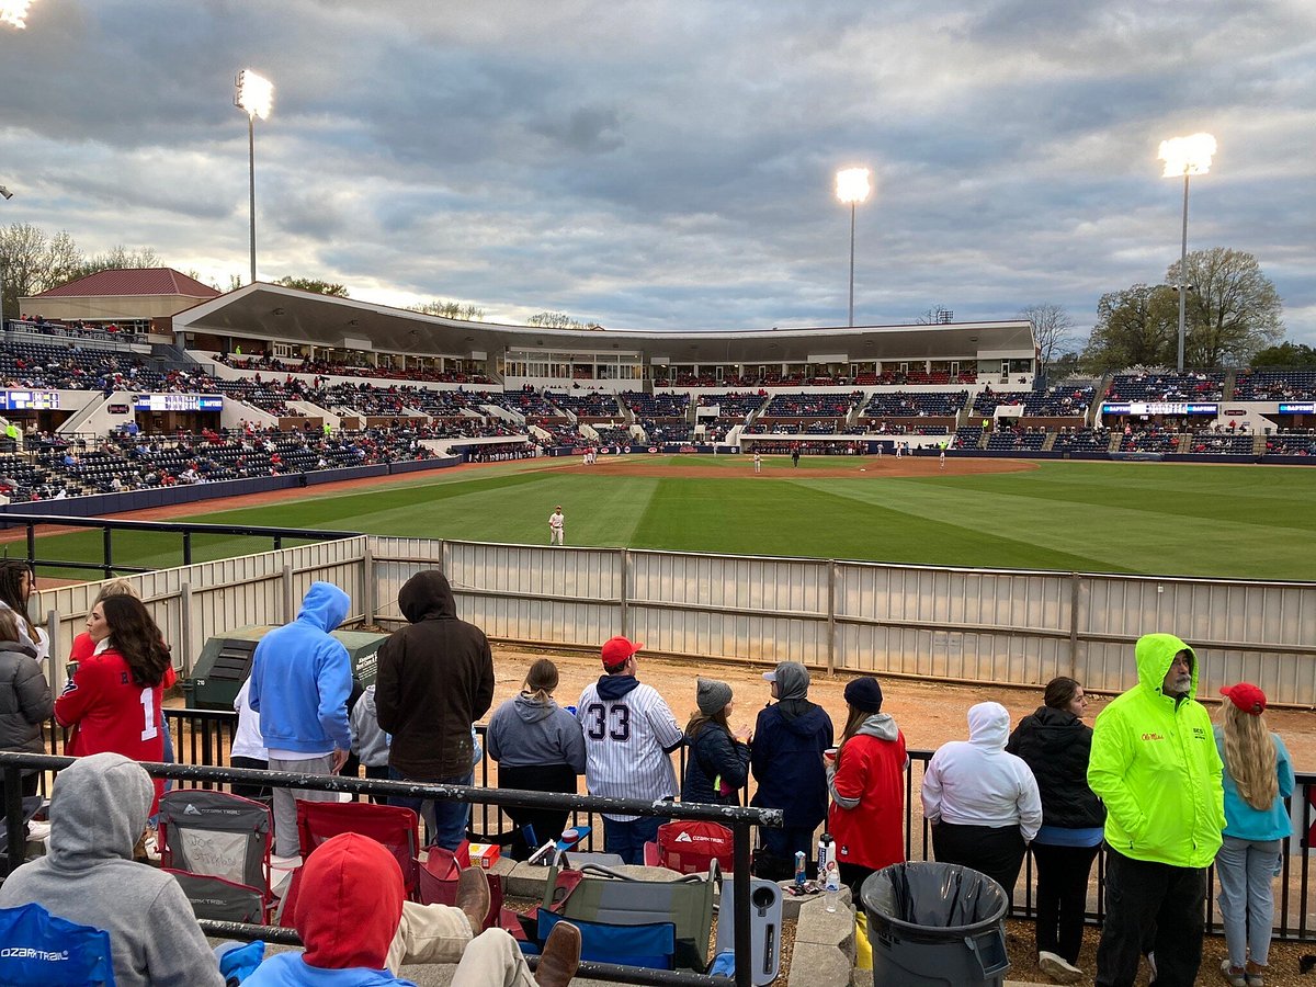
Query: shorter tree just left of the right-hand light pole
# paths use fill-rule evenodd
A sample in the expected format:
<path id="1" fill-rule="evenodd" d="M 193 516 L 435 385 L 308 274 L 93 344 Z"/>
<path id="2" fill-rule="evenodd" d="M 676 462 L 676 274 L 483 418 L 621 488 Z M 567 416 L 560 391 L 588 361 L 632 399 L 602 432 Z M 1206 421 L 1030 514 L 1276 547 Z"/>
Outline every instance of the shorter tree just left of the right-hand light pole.
<path id="1" fill-rule="evenodd" d="M 1096 325 L 1083 349 L 1083 366 L 1104 374 L 1133 366 L 1174 365 L 1179 301 L 1167 284 L 1134 284 L 1096 303 Z"/>

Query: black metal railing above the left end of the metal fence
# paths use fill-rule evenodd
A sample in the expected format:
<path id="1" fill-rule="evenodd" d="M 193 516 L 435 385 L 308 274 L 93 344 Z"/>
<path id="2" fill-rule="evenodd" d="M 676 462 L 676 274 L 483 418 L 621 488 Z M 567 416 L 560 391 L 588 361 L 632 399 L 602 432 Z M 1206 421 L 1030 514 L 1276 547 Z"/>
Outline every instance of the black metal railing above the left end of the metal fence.
<path id="1" fill-rule="evenodd" d="M 288 541 L 338 541 L 355 538 L 359 532 L 333 532 L 317 528 L 265 528 L 249 524 L 195 524 L 191 521 L 122 521 L 108 517 L 75 517 L 61 515 L 0 513 L 0 529 L 24 525 L 28 529 L 28 562 L 33 569 L 89 569 L 99 570 L 105 579 L 122 572 L 154 572 L 159 566 L 134 566 L 114 562 L 114 532 L 176 533 L 182 536 L 182 565 L 192 565 L 192 540 L 197 536 L 243 536 L 268 538 L 275 549 Z M 37 528 L 96 528 L 101 532 L 101 561 L 38 558 Z"/>

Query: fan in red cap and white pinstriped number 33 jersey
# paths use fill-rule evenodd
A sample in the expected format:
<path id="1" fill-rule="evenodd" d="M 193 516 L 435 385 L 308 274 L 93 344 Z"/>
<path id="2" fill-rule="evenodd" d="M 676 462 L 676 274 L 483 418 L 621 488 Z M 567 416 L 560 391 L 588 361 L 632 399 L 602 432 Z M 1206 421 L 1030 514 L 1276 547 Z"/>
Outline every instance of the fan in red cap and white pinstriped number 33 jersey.
<path id="1" fill-rule="evenodd" d="M 682 729 L 671 708 L 653 686 L 636 679 L 636 651 L 644 645 L 615 637 L 603 646 L 607 672 L 586 686 L 576 704 L 584 732 L 584 778 L 591 795 L 611 799 L 672 799 L 676 772 L 671 753 L 682 744 Z M 658 838 L 658 816 L 603 817 L 603 846 L 626 863 L 644 863 L 645 842 Z"/>

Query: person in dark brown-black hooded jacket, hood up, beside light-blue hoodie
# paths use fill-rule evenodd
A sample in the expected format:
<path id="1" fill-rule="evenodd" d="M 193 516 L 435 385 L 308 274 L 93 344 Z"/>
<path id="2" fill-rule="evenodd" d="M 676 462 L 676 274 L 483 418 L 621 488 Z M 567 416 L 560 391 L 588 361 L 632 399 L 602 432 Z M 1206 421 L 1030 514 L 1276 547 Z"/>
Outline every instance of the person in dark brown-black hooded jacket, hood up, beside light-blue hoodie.
<path id="1" fill-rule="evenodd" d="M 438 570 L 417 572 L 397 592 L 409 625 L 379 649 L 375 716 L 392 734 L 393 778 L 471 784 L 475 741 L 471 724 L 494 703 L 494 654 L 484 632 L 457 619 L 453 588 Z M 420 808 L 420 800 L 390 797 Z M 466 838 L 470 805 L 436 801 L 430 842 L 455 850 Z"/>

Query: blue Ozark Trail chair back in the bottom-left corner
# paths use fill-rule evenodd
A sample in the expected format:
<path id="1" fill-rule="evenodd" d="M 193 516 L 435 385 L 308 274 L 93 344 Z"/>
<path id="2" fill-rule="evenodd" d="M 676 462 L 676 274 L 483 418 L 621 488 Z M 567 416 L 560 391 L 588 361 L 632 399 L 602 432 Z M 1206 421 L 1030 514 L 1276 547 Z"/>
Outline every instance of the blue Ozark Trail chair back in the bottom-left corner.
<path id="1" fill-rule="evenodd" d="M 0 908 L 0 983 L 7 987 L 113 987 L 109 933 L 36 903 Z"/>

